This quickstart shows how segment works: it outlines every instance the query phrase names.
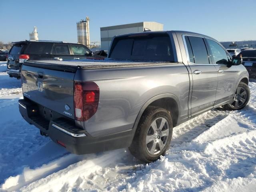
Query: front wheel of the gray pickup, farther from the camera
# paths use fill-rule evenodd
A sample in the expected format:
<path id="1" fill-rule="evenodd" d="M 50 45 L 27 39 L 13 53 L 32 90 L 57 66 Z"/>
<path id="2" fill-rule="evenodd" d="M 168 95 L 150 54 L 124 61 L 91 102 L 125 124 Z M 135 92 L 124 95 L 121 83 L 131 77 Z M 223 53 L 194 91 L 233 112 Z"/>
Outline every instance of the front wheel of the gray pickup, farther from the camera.
<path id="1" fill-rule="evenodd" d="M 232 101 L 223 106 L 224 110 L 241 110 L 250 99 L 250 89 L 247 84 L 240 82 Z"/>

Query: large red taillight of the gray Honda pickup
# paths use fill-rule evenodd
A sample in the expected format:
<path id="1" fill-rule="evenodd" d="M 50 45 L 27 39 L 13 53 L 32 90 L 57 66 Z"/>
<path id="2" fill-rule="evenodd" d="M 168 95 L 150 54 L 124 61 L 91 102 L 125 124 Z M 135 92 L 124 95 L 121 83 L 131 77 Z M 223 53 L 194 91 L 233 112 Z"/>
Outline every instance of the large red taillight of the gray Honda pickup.
<path id="1" fill-rule="evenodd" d="M 87 121 L 98 109 L 100 90 L 94 82 L 74 82 L 75 119 Z"/>

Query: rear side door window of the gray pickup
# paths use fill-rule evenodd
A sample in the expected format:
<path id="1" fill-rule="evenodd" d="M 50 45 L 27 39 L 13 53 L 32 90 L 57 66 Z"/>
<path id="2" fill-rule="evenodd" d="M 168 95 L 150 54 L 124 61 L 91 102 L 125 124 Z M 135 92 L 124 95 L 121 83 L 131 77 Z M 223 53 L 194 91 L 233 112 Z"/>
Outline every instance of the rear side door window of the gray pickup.
<path id="1" fill-rule="evenodd" d="M 206 50 L 206 46 L 204 44 L 204 40 L 201 37 L 188 37 L 189 42 L 191 44 L 192 53 L 194 56 L 194 63 L 196 64 L 210 64 L 208 52 Z M 191 52 L 189 54 L 192 54 Z M 192 58 L 192 56 L 189 56 Z M 193 62 L 190 60 L 190 62 Z"/>

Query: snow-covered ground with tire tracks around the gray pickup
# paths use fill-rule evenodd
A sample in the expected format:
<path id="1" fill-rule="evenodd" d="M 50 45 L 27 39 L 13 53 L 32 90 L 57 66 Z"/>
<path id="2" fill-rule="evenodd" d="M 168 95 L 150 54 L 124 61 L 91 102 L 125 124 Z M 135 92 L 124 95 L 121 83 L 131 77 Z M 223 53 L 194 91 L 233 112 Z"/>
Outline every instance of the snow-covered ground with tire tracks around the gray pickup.
<path id="1" fill-rule="evenodd" d="M 221 108 L 174 128 L 171 147 L 142 164 L 128 149 L 74 155 L 20 116 L 20 80 L 0 62 L 0 191 L 255 191 L 256 81 L 241 111 Z"/>

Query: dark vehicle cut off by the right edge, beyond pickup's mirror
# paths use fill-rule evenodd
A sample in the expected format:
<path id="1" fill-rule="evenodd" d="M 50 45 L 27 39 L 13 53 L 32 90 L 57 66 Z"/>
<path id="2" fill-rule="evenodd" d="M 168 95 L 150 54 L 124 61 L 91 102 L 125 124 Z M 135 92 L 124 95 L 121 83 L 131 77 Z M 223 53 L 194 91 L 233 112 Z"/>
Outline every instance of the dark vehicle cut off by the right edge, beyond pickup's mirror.
<path id="1" fill-rule="evenodd" d="M 249 72 L 251 78 L 256 78 L 256 49 L 246 49 L 240 52 L 243 58 L 243 65 Z"/>

